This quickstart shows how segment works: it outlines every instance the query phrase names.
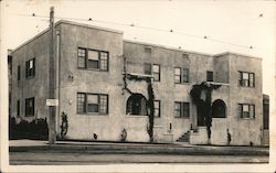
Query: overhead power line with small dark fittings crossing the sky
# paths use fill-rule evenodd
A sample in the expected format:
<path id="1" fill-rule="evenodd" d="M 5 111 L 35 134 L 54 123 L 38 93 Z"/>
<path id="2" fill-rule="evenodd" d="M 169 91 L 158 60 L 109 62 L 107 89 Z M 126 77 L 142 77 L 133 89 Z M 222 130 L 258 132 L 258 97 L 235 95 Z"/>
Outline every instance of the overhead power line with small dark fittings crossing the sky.
<path id="1" fill-rule="evenodd" d="M 21 14 L 15 14 L 15 15 L 23 15 L 23 17 L 31 17 L 31 18 L 42 18 L 41 21 L 45 21 L 45 18 L 49 19 L 49 17 L 46 17 L 46 15 L 36 15 L 35 13 L 32 13 L 32 14 L 22 14 L 21 13 Z M 258 15 L 258 18 L 263 18 L 263 15 L 264 14 L 261 13 Z M 231 43 L 231 42 L 223 41 L 223 40 L 220 40 L 220 39 L 214 39 L 214 37 L 209 36 L 209 35 L 195 35 L 195 34 L 190 34 L 190 33 L 185 33 L 185 32 L 178 31 L 178 30 L 172 30 L 172 29 L 166 30 L 166 29 L 159 29 L 159 28 L 138 25 L 138 24 L 134 24 L 134 23 L 128 24 L 128 23 L 113 22 L 113 21 L 106 21 L 106 20 L 96 20 L 96 19 L 93 19 L 93 18 L 84 19 L 84 18 L 55 17 L 55 19 L 124 25 L 124 26 L 129 26 L 129 28 L 137 28 L 137 29 L 151 30 L 151 31 L 158 31 L 158 32 L 173 33 L 173 34 L 183 35 L 183 36 L 209 40 L 209 41 L 212 41 L 212 42 L 226 44 L 226 45 L 232 45 L 232 46 L 242 47 L 242 48 L 247 48 L 247 50 L 253 50 L 253 48 L 256 50 L 257 48 L 257 47 L 255 47 L 253 45 L 242 45 L 242 44 Z"/>

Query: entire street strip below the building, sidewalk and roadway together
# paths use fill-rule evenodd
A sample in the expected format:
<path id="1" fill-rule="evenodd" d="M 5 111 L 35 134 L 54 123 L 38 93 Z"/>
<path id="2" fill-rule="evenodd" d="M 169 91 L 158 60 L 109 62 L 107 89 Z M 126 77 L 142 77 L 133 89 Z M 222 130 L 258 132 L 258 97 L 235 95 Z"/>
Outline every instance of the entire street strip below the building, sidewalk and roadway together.
<path id="1" fill-rule="evenodd" d="M 113 143 L 10 141 L 11 165 L 106 163 L 268 163 L 269 148 L 190 145 L 183 143 Z"/>

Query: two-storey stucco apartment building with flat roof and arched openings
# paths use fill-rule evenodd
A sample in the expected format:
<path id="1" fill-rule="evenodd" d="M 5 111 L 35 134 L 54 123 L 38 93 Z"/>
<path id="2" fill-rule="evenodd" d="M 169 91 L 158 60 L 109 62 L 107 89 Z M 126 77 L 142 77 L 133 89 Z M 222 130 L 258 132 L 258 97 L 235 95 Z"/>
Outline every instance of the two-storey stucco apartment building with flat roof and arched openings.
<path id="1" fill-rule="evenodd" d="M 67 115 L 67 139 L 261 144 L 262 60 L 209 55 L 123 40 L 123 32 L 68 21 L 55 24 L 56 131 Z M 12 52 L 11 115 L 18 121 L 49 116 L 49 30 Z M 212 91 L 208 140 L 204 112 L 191 99 L 197 84 Z M 149 89 L 151 88 L 151 89 Z M 201 93 L 201 100 L 208 95 Z M 150 106 L 153 99 L 153 106 Z M 229 138 L 231 137 L 231 142 Z"/>

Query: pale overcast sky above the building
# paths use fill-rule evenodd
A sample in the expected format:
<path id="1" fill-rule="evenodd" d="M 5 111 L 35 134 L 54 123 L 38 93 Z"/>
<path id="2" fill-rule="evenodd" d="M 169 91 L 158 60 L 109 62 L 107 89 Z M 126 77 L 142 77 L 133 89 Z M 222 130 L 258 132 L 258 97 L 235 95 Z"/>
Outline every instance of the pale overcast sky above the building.
<path id="1" fill-rule="evenodd" d="M 247 0 L 86 0 L 3 1 L 4 43 L 14 48 L 49 26 L 50 7 L 55 17 L 73 18 L 124 31 L 124 39 L 209 54 L 237 52 L 263 58 L 263 91 L 275 98 L 275 1 Z M 92 18 L 94 21 L 85 21 Z M 56 19 L 57 21 L 59 19 Z M 72 19 L 71 19 L 72 20 Z M 153 29 L 119 25 L 135 24 Z M 173 32 L 169 32 L 173 30 Z M 180 33 L 181 34 L 178 34 Z M 206 36 L 208 39 L 203 39 Z M 213 41 L 213 40 L 215 41 Z M 253 48 L 250 48 L 252 46 Z"/>

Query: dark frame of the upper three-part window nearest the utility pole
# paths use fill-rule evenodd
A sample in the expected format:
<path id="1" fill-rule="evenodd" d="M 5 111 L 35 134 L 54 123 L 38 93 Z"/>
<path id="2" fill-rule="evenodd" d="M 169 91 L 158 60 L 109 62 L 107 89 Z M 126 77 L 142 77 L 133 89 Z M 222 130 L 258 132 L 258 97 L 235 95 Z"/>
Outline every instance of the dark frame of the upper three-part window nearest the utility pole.
<path id="1" fill-rule="evenodd" d="M 79 56 L 78 51 L 79 50 L 84 50 L 85 51 L 85 55 L 84 56 Z M 88 52 L 89 51 L 94 51 L 97 52 L 98 54 L 98 64 L 97 64 L 97 68 L 92 68 L 88 67 Z M 102 54 L 106 54 L 106 60 L 103 58 Z M 85 58 L 85 65 L 84 67 L 79 66 L 79 57 L 81 58 Z M 102 63 L 106 63 L 104 66 L 105 68 L 102 68 Z M 102 50 L 94 50 L 94 48 L 85 48 L 85 47 L 77 47 L 77 68 L 78 69 L 86 69 L 86 71 L 99 71 L 99 72 L 109 72 L 109 52 L 108 51 L 102 51 Z"/>

